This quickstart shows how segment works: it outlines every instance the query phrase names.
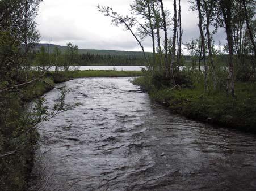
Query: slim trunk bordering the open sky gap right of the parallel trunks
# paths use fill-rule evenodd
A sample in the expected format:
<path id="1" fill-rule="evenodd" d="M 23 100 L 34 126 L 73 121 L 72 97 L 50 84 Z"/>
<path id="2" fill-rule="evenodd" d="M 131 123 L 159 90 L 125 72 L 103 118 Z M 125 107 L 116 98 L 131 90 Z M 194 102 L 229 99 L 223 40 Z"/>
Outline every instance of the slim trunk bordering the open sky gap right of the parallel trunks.
<path id="1" fill-rule="evenodd" d="M 202 19 L 202 12 L 201 12 L 201 3 L 200 0 L 196 0 L 196 5 L 198 6 L 198 16 L 199 16 L 199 30 L 201 36 L 201 46 L 202 46 L 202 54 L 203 54 L 203 63 L 204 63 L 204 90 L 207 92 L 207 72 L 208 67 L 206 63 L 205 57 L 205 40 L 204 40 L 204 31 L 203 31 L 203 19 Z"/>

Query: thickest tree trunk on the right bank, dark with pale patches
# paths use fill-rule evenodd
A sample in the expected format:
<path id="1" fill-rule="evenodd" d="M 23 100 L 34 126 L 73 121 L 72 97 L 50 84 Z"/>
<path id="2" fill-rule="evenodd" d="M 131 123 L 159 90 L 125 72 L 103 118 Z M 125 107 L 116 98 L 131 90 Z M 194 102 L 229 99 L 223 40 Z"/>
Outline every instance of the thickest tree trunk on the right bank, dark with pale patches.
<path id="1" fill-rule="evenodd" d="M 233 33 L 232 33 L 232 1 L 231 0 L 221 0 L 221 11 L 223 12 L 223 18 L 225 21 L 226 28 L 226 39 L 228 41 L 229 50 L 229 74 L 226 81 L 226 93 L 234 96 L 234 47 L 233 47 Z"/>

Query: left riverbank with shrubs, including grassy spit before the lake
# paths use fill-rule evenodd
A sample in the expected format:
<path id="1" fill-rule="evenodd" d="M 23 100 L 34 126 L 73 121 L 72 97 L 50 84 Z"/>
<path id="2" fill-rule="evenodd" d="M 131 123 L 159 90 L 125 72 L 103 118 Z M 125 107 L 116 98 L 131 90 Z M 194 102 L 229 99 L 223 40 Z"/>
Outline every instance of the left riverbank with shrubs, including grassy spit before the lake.
<path id="1" fill-rule="evenodd" d="M 3 190 L 26 190 L 27 180 L 33 167 L 34 147 L 39 139 L 37 129 L 26 132 L 26 127 L 21 124 L 24 114 L 24 104 L 33 99 L 43 96 L 54 88 L 56 83 L 69 81 L 80 77 L 132 77 L 141 76 L 141 71 L 69 71 L 69 72 L 48 72 L 43 80 L 34 81 L 24 86 L 19 93 L 2 94 L 0 103 L 5 102 L 9 108 L 9 114 L 5 121 L 0 121 L 0 187 Z M 5 111 L 7 112 L 7 111 Z M 0 114 L 1 115 L 1 114 Z M 16 137 L 16 134 L 26 132 Z M 4 141 L 9 140 L 9 141 Z M 18 149 L 17 149 L 18 148 Z M 10 151 L 15 151 L 10 154 Z M 7 155 L 5 155 L 7 153 Z M 1 156 L 3 155 L 3 156 Z"/>

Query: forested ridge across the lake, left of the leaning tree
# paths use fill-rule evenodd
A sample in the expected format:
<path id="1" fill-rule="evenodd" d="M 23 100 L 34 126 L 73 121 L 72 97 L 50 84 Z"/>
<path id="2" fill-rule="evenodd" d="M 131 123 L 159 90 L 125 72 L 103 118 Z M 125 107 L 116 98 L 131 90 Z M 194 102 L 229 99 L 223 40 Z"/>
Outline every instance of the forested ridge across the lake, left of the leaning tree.
<path id="1" fill-rule="evenodd" d="M 68 46 L 58 46 L 52 44 L 38 44 L 31 53 L 31 59 L 34 66 L 40 66 L 42 64 L 39 60 L 44 57 L 45 66 L 55 66 L 56 51 L 58 55 L 59 66 L 67 64 L 66 52 Z M 152 53 L 147 53 L 148 57 L 152 57 Z M 145 60 L 140 52 L 132 51 L 116 51 L 116 50 L 90 50 L 90 49 L 78 49 L 77 54 L 73 60 L 73 63 L 68 63 L 77 66 L 87 65 L 110 65 L 110 66 L 144 66 Z"/>

